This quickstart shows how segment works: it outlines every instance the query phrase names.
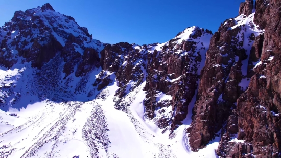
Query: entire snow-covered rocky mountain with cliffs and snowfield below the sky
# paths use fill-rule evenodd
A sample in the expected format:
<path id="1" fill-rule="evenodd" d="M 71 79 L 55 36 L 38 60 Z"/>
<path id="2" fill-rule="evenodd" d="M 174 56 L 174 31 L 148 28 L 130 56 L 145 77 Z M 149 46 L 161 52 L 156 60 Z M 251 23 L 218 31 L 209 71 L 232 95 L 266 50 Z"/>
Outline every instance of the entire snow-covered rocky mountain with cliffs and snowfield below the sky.
<path id="1" fill-rule="evenodd" d="M 50 4 L 0 28 L 0 157 L 280 157 L 281 2 L 102 43 Z"/>

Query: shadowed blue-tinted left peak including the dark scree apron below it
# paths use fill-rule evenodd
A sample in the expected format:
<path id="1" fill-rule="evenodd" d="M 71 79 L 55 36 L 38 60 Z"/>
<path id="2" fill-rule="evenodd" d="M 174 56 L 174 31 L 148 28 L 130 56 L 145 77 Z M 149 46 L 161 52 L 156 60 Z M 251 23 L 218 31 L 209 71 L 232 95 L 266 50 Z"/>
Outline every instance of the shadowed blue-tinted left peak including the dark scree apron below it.
<path id="1" fill-rule="evenodd" d="M 34 71 L 38 70 L 34 83 L 42 93 L 50 90 L 67 96 L 65 93 L 73 95 L 80 91 L 71 85 L 75 78 L 83 78 L 100 67 L 104 45 L 93 40 L 87 28 L 80 27 L 73 17 L 55 12 L 50 4 L 45 4 L 25 12 L 16 11 L 11 21 L 0 28 L 0 47 L 1 66 L 27 69 L 25 63 L 30 63 Z M 0 97 L 4 104 L 9 96 L 20 93 L 4 87 L 2 91 L 7 93 Z"/>

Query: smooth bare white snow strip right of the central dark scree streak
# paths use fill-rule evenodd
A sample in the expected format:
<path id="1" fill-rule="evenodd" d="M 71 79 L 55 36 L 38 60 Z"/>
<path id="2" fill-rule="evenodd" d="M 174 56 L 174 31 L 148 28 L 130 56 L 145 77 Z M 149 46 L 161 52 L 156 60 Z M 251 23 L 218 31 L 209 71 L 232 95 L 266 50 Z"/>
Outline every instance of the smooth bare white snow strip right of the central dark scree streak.
<path id="1" fill-rule="evenodd" d="M 110 89 L 114 94 L 118 87 L 114 84 Z M 116 110 L 114 102 L 109 98 L 98 102 L 104 105 L 102 108 L 108 122 L 108 136 L 111 141 L 109 150 L 119 157 L 144 157 L 142 140 L 127 115 Z"/>

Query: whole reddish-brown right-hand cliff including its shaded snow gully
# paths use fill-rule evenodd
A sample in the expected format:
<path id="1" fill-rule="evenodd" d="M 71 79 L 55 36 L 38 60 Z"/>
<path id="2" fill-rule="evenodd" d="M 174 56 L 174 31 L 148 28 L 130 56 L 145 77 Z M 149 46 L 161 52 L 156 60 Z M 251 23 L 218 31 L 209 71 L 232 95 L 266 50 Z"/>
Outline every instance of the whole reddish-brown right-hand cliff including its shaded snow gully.
<path id="1" fill-rule="evenodd" d="M 280 4 L 256 1 L 252 13 L 253 1 L 241 3 L 213 35 L 187 130 L 192 150 L 219 134 L 218 156 L 280 156 Z"/>

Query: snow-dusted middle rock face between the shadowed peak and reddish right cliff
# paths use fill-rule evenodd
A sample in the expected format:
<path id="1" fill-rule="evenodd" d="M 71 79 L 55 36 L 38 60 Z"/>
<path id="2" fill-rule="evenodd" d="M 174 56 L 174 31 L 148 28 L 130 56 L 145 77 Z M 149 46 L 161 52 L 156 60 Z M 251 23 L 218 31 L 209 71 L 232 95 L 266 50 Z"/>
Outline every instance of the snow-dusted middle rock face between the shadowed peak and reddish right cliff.
<path id="1" fill-rule="evenodd" d="M 120 87 L 115 94 L 119 97 L 115 107 L 124 110 L 123 97 L 145 81 L 147 119 L 172 133 L 188 113 L 211 36 L 208 30 L 191 27 L 161 44 L 108 44 L 101 51 L 103 71 L 99 75 L 103 79 L 94 85 L 104 88 L 112 82 L 109 75 L 114 73 Z M 106 71 L 110 72 L 107 76 L 103 75 Z"/>

